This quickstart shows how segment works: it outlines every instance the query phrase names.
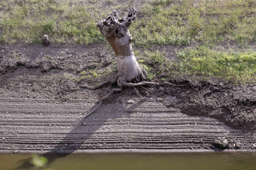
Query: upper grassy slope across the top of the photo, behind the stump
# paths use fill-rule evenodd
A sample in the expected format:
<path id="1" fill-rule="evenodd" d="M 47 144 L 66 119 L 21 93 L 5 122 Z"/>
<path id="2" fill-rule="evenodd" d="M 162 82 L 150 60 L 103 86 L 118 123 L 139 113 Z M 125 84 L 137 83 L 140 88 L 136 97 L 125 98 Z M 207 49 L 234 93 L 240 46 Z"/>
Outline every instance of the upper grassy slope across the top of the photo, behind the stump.
<path id="1" fill-rule="evenodd" d="M 116 0 L 102 3 L 109 9 L 103 10 L 91 2 L 87 5 L 98 19 L 106 18 L 114 8 L 124 15 L 130 6 L 118 5 Z M 95 25 L 84 24 L 95 21 L 81 0 L 3 0 L 0 9 L 0 42 L 38 43 L 44 34 L 57 43 L 70 38 L 79 44 L 105 40 Z M 151 0 L 140 9 L 130 27 L 138 46 L 191 42 L 214 46 L 226 40 L 240 45 L 256 42 L 255 0 Z"/>

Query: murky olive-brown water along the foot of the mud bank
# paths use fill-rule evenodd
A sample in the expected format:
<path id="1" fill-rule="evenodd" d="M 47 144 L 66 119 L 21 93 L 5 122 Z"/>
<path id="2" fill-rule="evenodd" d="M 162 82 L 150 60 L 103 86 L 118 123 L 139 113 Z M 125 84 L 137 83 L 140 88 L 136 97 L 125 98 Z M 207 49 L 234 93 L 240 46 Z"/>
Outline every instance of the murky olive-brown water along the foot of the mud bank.
<path id="1" fill-rule="evenodd" d="M 256 152 L 81 153 L 44 155 L 51 170 L 256 170 Z M 40 169 L 30 154 L 0 154 L 0 170 Z"/>

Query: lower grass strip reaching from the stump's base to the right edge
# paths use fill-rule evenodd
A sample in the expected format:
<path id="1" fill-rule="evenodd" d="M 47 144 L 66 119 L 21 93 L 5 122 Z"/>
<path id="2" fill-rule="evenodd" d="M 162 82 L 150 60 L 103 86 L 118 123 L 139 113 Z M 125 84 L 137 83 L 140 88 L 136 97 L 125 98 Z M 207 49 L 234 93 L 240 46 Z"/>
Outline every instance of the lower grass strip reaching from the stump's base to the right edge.
<path id="1" fill-rule="evenodd" d="M 164 53 L 164 52 L 163 52 Z M 183 78 L 227 84 L 256 83 L 256 52 L 218 52 L 207 47 L 187 48 L 177 52 L 177 60 L 167 60 L 159 51 L 141 53 L 138 62 L 153 81 Z"/>

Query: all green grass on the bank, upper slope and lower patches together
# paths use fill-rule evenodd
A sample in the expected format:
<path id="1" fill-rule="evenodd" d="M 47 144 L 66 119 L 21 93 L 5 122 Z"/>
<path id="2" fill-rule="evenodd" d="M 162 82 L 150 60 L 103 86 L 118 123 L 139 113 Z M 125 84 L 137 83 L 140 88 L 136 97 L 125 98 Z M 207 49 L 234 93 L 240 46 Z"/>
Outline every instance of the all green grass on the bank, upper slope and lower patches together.
<path id="1" fill-rule="evenodd" d="M 112 9 L 124 16 L 133 2 L 136 5 L 137 1 L 133 0 L 124 2 L 126 4 L 117 0 L 91 0 L 87 7 L 101 20 Z M 44 34 L 51 43 L 105 41 L 95 25 L 84 23 L 95 21 L 81 0 L 0 1 L 0 43 L 41 43 Z M 255 0 L 142 1 L 130 33 L 135 47 L 145 47 L 144 52 L 135 52 L 135 55 L 151 80 L 187 77 L 225 79 L 235 84 L 255 82 Z M 233 44 L 233 49 L 217 50 L 224 42 Z M 177 51 L 177 61 L 171 62 L 164 52 L 147 50 L 154 44 L 187 47 Z M 91 70 L 82 77 L 85 75 L 97 79 L 105 72 Z"/>

